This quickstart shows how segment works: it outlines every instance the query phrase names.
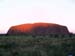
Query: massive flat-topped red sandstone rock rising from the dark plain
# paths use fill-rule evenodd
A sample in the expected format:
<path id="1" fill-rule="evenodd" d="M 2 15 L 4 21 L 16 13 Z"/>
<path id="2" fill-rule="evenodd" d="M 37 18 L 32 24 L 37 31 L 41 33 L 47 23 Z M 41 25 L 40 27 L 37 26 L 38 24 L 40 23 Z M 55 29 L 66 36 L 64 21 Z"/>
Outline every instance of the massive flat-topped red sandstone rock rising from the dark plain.
<path id="1" fill-rule="evenodd" d="M 69 34 L 66 26 L 53 23 L 33 23 L 12 26 L 8 35 L 13 34 L 32 34 L 32 35 L 47 35 L 47 34 Z"/>

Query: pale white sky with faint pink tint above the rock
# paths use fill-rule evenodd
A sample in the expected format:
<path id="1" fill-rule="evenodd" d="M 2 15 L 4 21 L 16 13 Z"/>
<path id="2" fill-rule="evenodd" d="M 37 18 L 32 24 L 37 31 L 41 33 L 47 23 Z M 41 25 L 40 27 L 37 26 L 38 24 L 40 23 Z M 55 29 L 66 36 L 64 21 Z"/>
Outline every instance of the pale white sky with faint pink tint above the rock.
<path id="1" fill-rule="evenodd" d="M 75 33 L 75 0 L 0 0 L 0 33 L 35 22 L 57 23 Z"/>

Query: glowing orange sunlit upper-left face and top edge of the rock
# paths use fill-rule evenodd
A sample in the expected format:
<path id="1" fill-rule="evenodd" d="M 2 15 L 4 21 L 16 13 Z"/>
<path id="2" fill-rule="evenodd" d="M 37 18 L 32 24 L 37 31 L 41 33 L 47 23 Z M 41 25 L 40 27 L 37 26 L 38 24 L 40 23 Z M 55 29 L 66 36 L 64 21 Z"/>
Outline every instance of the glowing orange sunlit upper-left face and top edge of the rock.
<path id="1" fill-rule="evenodd" d="M 35 27 L 39 27 L 39 26 L 43 26 L 43 27 L 48 27 L 48 26 L 56 26 L 57 24 L 52 24 L 52 23 L 34 23 L 34 24 L 23 24 L 23 25 L 17 25 L 17 26 L 14 26 L 13 30 L 19 30 L 21 32 L 24 32 L 24 31 L 30 31 L 32 28 L 35 28 Z"/>

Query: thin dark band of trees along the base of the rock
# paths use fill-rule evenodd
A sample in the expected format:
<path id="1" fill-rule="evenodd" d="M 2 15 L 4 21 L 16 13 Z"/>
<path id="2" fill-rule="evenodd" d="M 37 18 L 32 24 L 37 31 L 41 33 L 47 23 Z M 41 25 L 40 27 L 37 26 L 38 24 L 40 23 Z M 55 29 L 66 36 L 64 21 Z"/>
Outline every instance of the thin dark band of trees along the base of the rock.
<path id="1" fill-rule="evenodd" d="M 0 34 L 0 36 L 32 36 L 32 37 L 36 37 L 36 36 L 49 36 L 49 37 L 74 37 L 75 34 L 70 33 L 70 34 L 47 34 L 47 35 L 32 35 L 32 34 Z"/>

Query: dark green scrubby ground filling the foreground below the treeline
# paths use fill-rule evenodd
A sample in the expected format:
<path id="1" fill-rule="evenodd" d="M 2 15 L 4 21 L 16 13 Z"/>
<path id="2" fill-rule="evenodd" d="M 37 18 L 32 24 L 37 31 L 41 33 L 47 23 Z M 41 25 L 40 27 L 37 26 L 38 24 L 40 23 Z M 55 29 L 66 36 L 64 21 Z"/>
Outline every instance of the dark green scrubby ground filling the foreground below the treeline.
<path id="1" fill-rule="evenodd" d="M 75 56 L 75 36 L 0 36 L 0 56 Z"/>

